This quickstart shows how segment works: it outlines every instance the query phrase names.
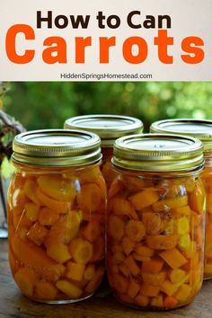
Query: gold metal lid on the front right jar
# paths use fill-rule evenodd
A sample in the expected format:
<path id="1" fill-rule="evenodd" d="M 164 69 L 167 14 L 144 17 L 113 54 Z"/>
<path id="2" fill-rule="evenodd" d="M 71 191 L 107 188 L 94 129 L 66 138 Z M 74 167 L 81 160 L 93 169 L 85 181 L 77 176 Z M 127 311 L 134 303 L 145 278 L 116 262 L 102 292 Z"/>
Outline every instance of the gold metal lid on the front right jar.
<path id="1" fill-rule="evenodd" d="M 202 143 L 193 137 L 139 134 L 121 137 L 114 145 L 115 168 L 146 172 L 180 172 L 202 168 Z"/>

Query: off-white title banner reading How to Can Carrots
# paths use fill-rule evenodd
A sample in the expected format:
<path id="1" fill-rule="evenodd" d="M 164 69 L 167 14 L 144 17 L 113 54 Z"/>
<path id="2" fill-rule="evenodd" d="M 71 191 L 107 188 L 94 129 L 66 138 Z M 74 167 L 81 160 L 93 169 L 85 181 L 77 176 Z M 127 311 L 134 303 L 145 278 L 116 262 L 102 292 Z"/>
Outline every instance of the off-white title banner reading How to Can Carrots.
<path id="1" fill-rule="evenodd" d="M 210 81 L 211 0 L 1 0 L 1 81 Z"/>

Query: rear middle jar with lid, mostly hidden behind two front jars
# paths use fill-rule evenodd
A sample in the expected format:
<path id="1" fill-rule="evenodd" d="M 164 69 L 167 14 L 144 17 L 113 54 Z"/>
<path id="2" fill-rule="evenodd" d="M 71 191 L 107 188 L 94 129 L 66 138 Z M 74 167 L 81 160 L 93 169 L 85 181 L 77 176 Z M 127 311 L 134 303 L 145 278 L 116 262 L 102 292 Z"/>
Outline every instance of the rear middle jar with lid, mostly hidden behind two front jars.
<path id="1" fill-rule="evenodd" d="M 113 144 L 119 137 L 141 133 L 143 123 L 139 119 L 118 115 L 89 115 L 66 119 L 64 128 L 83 129 L 97 134 L 102 146 L 102 174 L 109 189 L 116 176 L 111 169 Z"/>

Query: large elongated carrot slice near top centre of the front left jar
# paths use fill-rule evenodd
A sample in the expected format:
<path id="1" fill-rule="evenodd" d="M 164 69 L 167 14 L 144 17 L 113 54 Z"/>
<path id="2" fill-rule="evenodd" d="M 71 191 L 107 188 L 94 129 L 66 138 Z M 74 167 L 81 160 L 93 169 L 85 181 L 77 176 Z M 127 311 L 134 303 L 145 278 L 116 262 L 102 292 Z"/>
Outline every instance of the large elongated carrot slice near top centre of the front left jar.
<path id="1" fill-rule="evenodd" d="M 73 201 L 76 189 L 73 182 L 66 180 L 61 175 L 43 175 L 37 179 L 40 190 L 49 198 L 57 201 Z"/>

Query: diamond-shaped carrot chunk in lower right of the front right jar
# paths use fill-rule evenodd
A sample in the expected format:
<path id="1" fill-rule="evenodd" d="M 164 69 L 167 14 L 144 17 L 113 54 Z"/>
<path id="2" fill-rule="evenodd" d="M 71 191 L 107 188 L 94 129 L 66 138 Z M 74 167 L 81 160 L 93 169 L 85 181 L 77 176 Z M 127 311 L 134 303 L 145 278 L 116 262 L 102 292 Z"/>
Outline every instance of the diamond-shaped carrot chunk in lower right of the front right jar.
<path id="1" fill-rule="evenodd" d="M 177 249 L 164 251 L 159 255 L 172 269 L 178 269 L 187 263 L 186 258 Z"/>

